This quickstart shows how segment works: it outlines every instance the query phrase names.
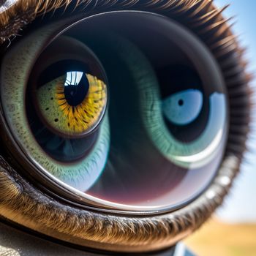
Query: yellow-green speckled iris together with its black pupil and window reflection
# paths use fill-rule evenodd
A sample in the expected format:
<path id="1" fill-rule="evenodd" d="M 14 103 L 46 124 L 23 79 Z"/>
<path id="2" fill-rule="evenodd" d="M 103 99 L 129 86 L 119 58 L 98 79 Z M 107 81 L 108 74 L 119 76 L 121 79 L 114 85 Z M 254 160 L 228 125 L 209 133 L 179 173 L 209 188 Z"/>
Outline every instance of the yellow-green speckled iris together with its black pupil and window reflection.
<path id="1" fill-rule="evenodd" d="M 107 102 L 102 80 L 83 72 L 67 72 L 37 91 L 40 112 L 57 132 L 79 135 L 93 129 Z"/>

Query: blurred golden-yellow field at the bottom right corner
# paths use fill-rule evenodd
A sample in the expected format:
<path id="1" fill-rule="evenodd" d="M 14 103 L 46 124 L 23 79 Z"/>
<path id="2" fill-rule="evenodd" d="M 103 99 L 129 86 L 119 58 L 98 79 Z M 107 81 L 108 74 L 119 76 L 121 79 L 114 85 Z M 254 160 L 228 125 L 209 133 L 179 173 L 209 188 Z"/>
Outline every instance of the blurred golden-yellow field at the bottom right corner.
<path id="1" fill-rule="evenodd" d="M 199 256 L 256 256 L 256 224 L 227 224 L 213 219 L 185 244 Z"/>

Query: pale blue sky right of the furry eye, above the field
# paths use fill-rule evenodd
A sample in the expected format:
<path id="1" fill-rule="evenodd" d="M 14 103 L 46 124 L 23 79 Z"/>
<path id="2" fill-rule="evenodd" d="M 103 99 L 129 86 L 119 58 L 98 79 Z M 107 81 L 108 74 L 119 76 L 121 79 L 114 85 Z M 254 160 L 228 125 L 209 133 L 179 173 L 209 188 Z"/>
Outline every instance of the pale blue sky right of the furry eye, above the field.
<path id="1" fill-rule="evenodd" d="M 250 72 L 256 74 L 256 1 L 215 0 L 215 4 L 219 7 L 231 4 L 224 15 L 235 16 L 236 24 L 233 31 L 240 35 L 241 44 L 246 46 L 246 59 L 250 62 Z M 256 90 L 256 79 L 252 81 L 252 86 Z M 256 132 L 252 136 L 256 138 Z M 217 212 L 217 216 L 227 222 L 256 222 L 256 139 L 249 140 L 249 147 L 251 152 L 246 154 L 246 162 L 243 164 L 241 174 L 236 178 L 224 206 Z"/>

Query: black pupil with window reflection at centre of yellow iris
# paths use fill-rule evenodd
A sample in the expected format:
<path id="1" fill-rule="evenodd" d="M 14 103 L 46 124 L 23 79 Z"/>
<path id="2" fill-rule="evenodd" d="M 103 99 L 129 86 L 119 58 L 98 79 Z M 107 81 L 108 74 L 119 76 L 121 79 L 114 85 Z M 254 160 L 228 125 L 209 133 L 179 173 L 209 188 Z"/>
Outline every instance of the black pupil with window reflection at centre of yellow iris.
<path id="1" fill-rule="evenodd" d="M 72 75 L 75 75 L 75 72 L 72 72 Z M 85 99 L 87 92 L 89 90 L 89 81 L 86 78 L 86 75 L 83 74 L 82 78 L 72 78 L 66 80 L 64 86 L 64 95 L 67 103 L 71 106 L 80 105 Z"/>

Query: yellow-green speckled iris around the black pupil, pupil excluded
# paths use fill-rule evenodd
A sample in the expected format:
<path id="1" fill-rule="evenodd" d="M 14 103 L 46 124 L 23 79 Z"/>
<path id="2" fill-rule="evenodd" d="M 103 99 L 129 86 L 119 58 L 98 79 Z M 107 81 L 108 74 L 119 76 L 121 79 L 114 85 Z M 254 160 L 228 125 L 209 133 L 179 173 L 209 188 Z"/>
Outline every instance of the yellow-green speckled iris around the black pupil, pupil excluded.
<path id="1" fill-rule="evenodd" d="M 107 103 L 107 86 L 93 75 L 86 74 L 86 78 L 88 92 L 83 102 L 76 106 L 69 105 L 65 98 L 65 75 L 38 89 L 40 113 L 57 132 L 80 135 L 91 130 L 102 117 Z"/>

